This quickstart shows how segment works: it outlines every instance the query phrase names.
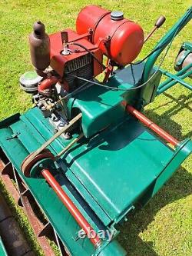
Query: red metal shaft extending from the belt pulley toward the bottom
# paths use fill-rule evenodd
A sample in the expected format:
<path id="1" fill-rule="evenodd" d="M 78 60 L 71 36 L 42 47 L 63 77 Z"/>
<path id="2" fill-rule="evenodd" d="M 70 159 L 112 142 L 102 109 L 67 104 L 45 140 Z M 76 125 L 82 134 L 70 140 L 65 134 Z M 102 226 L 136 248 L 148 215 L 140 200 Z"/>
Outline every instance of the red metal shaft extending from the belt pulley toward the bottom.
<path id="1" fill-rule="evenodd" d="M 41 175 L 43 175 L 45 180 L 48 181 L 48 184 L 51 186 L 51 188 L 53 188 L 55 193 L 58 195 L 58 198 L 60 198 L 65 207 L 68 208 L 68 211 L 78 222 L 79 226 L 84 230 L 84 232 L 86 234 L 91 234 L 91 243 L 94 244 L 95 247 L 98 247 L 101 244 L 101 240 L 98 238 L 97 233 L 94 231 L 88 221 L 86 221 L 84 216 L 68 197 L 68 194 L 66 194 L 65 191 L 61 188 L 61 186 L 58 184 L 58 181 L 55 180 L 55 178 L 53 177 L 53 175 L 51 175 L 48 169 L 43 169 L 41 171 Z"/>

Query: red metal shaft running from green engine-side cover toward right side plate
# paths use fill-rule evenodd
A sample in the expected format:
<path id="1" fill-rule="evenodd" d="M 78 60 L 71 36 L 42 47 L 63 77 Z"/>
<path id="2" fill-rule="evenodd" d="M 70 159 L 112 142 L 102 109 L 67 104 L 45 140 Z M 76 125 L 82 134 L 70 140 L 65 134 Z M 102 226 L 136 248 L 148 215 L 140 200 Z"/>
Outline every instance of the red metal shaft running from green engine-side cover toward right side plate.
<path id="1" fill-rule="evenodd" d="M 123 103 L 124 104 L 124 103 Z M 131 115 L 134 115 L 135 118 L 137 118 L 141 123 L 146 125 L 148 128 L 153 130 L 157 133 L 161 138 L 164 138 L 165 141 L 169 142 L 171 145 L 177 146 L 179 141 L 177 141 L 176 138 L 172 137 L 167 131 L 164 131 L 164 129 L 160 128 L 158 125 L 154 124 L 153 121 L 148 119 L 145 115 L 143 115 L 140 111 L 137 111 L 134 107 L 131 105 L 126 106 L 126 110 L 131 113 Z"/>

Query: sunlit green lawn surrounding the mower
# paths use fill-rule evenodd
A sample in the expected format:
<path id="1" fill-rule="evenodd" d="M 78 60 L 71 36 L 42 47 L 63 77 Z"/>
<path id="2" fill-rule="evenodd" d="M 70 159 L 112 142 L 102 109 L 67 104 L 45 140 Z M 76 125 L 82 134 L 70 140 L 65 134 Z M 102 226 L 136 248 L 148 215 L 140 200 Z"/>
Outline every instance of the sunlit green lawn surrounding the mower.
<path id="1" fill-rule="evenodd" d="M 0 1 L 0 118 L 12 115 L 16 111 L 23 112 L 31 106 L 30 97 L 18 86 L 19 76 L 32 69 L 28 51 L 28 34 L 31 32 L 31 25 L 40 19 L 45 23 L 48 33 L 68 27 L 74 28 L 80 8 L 90 3 L 103 5 L 112 10 L 122 10 L 125 17 L 139 22 L 145 33 L 150 31 L 158 15 L 164 14 L 167 17 L 164 27 L 144 45 L 140 58 L 154 47 L 164 32 L 191 5 L 190 0 Z M 164 68 L 173 71 L 174 58 L 180 44 L 187 40 L 191 41 L 191 38 L 190 23 L 174 40 Z M 156 98 L 154 103 L 146 108 L 145 113 L 171 135 L 181 140 L 191 136 L 191 108 L 190 91 L 176 85 L 166 94 Z M 191 157 L 188 158 L 151 202 L 143 210 L 131 215 L 121 228 L 119 240 L 129 255 L 192 255 L 191 160 Z M 6 194 L 2 185 L 0 190 Z M 36 254 L 41 255 L 25 215 L 15 207 L 8 194 L 7 199 L 25 234 L 28 235 L 32 248 L 35 249 Z"/>

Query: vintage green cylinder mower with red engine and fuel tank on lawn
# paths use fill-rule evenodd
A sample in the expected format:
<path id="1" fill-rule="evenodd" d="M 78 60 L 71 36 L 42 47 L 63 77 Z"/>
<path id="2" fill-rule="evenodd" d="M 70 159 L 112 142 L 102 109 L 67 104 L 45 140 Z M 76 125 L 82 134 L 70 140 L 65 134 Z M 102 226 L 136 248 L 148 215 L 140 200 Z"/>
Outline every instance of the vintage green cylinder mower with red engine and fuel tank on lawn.
<path id="1" fill-rule="evenodd" d="M 20 200 L 28 193 L 35 198 L 68 255 L 126 255 L 116 240 L 118 224 L 190 155 L 189 138 L 178 141 L 141 111 L 177 82 L 192 88 L 184 81 L 192 75 L 190 42 L 180 48 L 175 75 L 161 68 L 191 17 L 189 8 L 139 62 L 164 16 L 146 37 L 122 12 L 95 5 L 78 14 L 76 31 L 47 35 L 35 23 L 29 35 L 35 71 L 20 78 L 35 107 L 0 122 L 2 175 L 12 168 L 25 188 Z M 162 75 L 167 80 L 160 83 Z"/>

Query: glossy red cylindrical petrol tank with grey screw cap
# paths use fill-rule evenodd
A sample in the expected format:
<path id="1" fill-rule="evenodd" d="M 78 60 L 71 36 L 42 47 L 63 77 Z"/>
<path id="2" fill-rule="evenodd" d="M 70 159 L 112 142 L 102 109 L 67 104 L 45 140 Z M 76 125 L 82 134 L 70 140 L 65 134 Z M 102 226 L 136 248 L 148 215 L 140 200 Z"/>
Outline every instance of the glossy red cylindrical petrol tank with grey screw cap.
<path id="1" fill-rule="evenodd" d="M 137 58 L 144 44 L 140 25 L 124 18 L 122 12 L 110 12 L 96 5 L 83 8 L 76 21 L 79 35 L 92 32 L 92 43 L 118 65 Z"/>

